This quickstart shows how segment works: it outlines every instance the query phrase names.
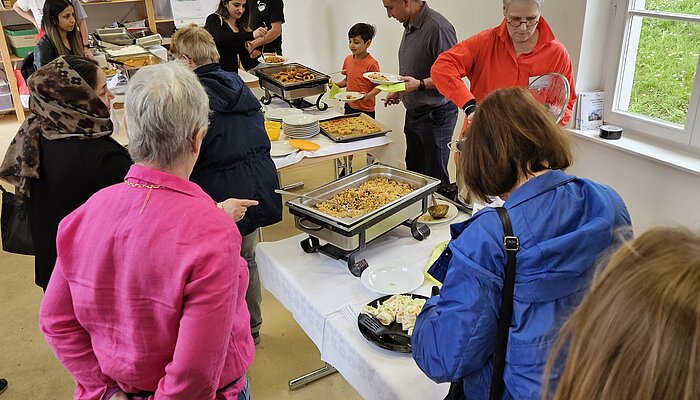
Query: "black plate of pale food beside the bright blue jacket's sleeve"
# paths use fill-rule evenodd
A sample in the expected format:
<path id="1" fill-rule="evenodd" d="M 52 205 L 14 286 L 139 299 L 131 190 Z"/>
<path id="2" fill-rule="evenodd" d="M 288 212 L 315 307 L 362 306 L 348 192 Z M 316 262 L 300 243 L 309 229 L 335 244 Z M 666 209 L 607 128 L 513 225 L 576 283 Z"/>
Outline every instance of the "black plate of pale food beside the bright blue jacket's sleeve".
<path id="1" fill-rule="evenodd" d="M 360 323 L 358 315 L 357 326 L 365 339 L 383 349 L 398 353 L 411 352 L 411 339 L 416 317 L 423 309 L 428 298 L 419 294 L 395 294 L 380 297 L 362 307 L 361 314 L 367 314 L 379 320 L 379 323 L 389 330 L 388 333 L 375 335 L 369 328 Z M 392 335 L 394 333 L 406 336 Z"/>

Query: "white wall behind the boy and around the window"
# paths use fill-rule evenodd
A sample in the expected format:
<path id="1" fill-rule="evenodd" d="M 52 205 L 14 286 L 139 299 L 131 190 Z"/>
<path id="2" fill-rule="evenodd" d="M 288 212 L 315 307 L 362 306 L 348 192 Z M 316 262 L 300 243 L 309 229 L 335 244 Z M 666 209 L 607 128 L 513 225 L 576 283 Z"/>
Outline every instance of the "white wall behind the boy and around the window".
<path id="1" fill-rule="evenodd" d="M 579 90 L 603 87 L 613 2 L 545 2 L 543 15 L 569 50 Z M 431 0 L 429 4 L 452 22 L 460 40 L 499 24 L 502 18 L 498 0 Z M 325 72 L 338 71 L 349 54 L 348 29 L 356 22 L 367 22 L 378 30 L 370 52 L 383 70 L 398 70 L 402 26 L 386 17 L 381 0 L 286 0 L 285 14 L 285 54 L 303 64 Z M 390 136 L 396 142 L 380 158 L 394 165 L 401 165 L 405 151 L 403 116 L 401 106 L 385 109 L 378 104 L 377 118 L 392 127 Z M 700 226 L 700 210 L 688 206 L 700 199 L 700 176 L 580 138 L 574 139 L 574 153 L 570 172 L 620 192 L 638 233 L 654 225 Z"/>

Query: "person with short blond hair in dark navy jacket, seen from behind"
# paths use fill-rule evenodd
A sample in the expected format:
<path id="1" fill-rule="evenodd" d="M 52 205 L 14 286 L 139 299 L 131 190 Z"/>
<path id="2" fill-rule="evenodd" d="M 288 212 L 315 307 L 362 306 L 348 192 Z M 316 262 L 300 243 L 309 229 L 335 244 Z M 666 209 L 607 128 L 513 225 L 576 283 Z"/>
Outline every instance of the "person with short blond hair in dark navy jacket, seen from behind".
<path id="1" fill-rule="evenodd" d="M 219 53 L 209 32 L 190 25 L 173 35 L 170 51 L 199 77 L 209 95 L 211 116 L 199 158 L 190 175 L 215 201 L 229 197 L 257 200 L 237 222 L 243 235 L 241 256 L 248 262 L 250 280 L 246 301 L 253 339 L 262 325 L 262 302 L 255 245 L 258 229 L 282 220 L 277 169 L 270 157 L 270 139 L 260 102 L 235 72 L 218 64 Z"/>

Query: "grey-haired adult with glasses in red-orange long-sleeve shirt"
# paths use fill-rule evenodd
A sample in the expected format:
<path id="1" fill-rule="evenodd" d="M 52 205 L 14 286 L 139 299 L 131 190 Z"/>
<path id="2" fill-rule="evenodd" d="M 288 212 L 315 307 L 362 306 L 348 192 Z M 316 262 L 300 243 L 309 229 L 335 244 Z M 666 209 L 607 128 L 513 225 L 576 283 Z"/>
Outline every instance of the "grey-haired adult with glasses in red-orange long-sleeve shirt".
<path id="1" fill-rule="evenodd" d="M 569 80 L 569 105 L 561 120 L 566 125 L 576 102 L 573 68 L 564 45 L 541 17 L 544 0 L 503 0 L 503 22 L 443 52 L 430 76 L 445 97 L 464 110 L 464 127 L 480 101 L 492 91 L 527 86 L 549 72 Z M 470 88 L 462 81 L 469 78 Z"/>

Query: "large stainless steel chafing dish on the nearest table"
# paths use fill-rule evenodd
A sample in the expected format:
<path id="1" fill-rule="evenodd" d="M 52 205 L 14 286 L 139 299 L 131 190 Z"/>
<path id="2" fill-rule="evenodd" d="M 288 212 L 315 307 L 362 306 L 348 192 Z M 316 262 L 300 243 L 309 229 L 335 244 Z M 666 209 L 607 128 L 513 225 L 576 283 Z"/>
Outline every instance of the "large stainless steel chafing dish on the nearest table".
<path id="1" fill-rule="evenodd" d="M 427 225 L 418 223 L 418 218 L 427 211 L 429 196 L 437 190 L 440 183 L 438 179 L 376 163 L 314 189 L 307 195 L 327 200 L 347 188 L 357 187 L 378 177 L 407 183 L 413 191 L 368 214 L 354 218 L 338 218 L 322 213 L 313 207 L 318 200 L 297 197 L 287 201 L 285 204 L 294 216 L 294 224 L 299 230 L 309 234 L 309 238 L 301 242 L 302 249 L 307 253 L 319 251 L 335 259 L 346 260 L 350 272 L 360 276 L 368 264 L 365 260 L 356 260 L 355 257 L 370 241 L 399 225 L 409 226 L 417 240 L 428 237 L 430 229 Z M 321 245 L 321 240 L 326 243 Z"/>

